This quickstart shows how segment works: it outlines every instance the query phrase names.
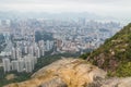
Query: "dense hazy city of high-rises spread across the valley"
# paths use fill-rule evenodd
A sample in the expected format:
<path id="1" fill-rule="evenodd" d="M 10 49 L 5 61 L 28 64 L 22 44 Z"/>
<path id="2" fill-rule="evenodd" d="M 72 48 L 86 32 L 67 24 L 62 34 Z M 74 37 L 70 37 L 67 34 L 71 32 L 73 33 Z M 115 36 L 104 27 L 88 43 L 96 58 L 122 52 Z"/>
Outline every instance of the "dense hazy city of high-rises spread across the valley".
<path id="1" fill-rule="evenodd" d="M 1 20 L 0 60 L 4 72 L 32 72 L 37 59 L 64 52 L 81 52 L 96 49 L 120 29 L 115 22 L 28 18 Z"/>

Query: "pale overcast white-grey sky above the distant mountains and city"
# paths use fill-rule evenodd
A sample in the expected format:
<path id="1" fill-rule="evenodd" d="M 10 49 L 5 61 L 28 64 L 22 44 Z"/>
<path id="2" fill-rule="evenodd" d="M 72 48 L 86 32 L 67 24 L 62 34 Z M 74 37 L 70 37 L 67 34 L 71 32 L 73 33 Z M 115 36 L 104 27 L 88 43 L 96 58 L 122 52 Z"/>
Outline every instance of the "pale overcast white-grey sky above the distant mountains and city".
<path id="1" fill-rule="evenodd" d="M 131 0 L 0 0 L 0 11 L 91 12 L 131 17 Z"/>

